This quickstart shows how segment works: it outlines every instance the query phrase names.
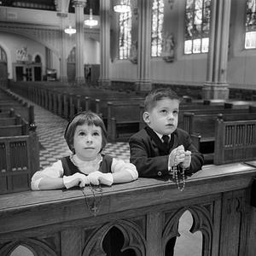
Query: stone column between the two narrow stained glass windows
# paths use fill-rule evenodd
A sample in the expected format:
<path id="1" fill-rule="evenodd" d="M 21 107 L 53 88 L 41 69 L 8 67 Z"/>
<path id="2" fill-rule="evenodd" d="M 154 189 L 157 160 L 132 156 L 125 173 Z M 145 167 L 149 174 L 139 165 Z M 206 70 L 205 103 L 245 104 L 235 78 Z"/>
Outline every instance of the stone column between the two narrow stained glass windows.
<path id="1" fill-rule="evenodd" d="M 152 1 L 138 4 L 137 90 L 151 90 L 151 9 Z"/>

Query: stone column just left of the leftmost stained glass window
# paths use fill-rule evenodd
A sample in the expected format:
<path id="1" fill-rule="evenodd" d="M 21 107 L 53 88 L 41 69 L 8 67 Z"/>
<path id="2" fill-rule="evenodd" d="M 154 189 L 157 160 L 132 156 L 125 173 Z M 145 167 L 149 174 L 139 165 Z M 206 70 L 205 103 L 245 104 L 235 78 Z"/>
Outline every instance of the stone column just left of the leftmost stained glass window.
<path id="1" fill-rule="evenodd" d="M 101 67 L 99 85 L 109 87 L 109 61 L 110 61 L 110 0 L 100 2 L 100 44 L 101 44 Z"/>

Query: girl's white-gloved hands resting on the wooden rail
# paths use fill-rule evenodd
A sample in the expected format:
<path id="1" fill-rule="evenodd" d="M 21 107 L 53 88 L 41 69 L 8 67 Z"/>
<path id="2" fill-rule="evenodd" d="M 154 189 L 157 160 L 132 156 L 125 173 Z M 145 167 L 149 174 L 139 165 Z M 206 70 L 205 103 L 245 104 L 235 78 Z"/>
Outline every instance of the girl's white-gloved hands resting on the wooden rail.
<path id="1" fill-rule="evenodd" d="M 111 186 L 113 184 L 112 173 L 102 173 L 99 171 L 91 172 L 88 176 L 83 173 L 76 172 L 71 176 L 63 176 L 63 183 L 67 189 L 74 186 L 84 188 L 85 185 L 93 184 L 99 185 L 100 183 Z"/>

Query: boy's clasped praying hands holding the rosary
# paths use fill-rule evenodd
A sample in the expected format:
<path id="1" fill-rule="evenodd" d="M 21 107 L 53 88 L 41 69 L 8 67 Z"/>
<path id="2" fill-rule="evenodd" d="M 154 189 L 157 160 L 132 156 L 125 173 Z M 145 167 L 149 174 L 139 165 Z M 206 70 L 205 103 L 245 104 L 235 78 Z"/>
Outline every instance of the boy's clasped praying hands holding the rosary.
<path id="1" fill-rule="evenodd" d="M 184 146 L 180 145 L 174 148 L 169 154 L 169 166 L 177 166 L 181 164 L 183 168 L 189 168 L 191 163 L 191 152 L 189 150 L 185 151 Z"/>

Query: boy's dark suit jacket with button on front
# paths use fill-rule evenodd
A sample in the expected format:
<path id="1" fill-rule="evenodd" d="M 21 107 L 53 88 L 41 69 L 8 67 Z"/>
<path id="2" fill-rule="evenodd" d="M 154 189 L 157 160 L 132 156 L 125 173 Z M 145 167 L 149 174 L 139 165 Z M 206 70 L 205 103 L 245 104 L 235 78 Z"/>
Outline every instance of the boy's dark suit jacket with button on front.
<path id="1" fill-rule="evenodd" d="M 168 175 L 168 157 L 172 149 L 183 145 L 191 151 L 191 164 L 185 173 L 191 175 L 199 170 L 204 163 L 203 155 L 192 144 L 186 131 L 177 128 L 172 133 L 169 152 L 164 152 L 160 138 L 149 127 L 134 134 L 130 140 L 131 163 L 137 166 L 139 177 L 160 177 Z"/>

